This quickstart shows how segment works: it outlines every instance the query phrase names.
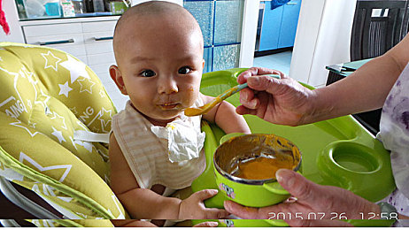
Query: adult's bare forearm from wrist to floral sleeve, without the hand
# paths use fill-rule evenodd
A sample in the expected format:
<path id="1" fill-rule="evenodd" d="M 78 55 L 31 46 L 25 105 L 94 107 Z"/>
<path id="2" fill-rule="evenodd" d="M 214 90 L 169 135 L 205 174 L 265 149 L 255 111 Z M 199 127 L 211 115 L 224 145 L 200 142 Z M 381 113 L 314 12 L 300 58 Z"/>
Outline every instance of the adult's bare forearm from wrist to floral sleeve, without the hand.
<path id="1" fill-rule="evenodd" d="M 327 108 L 316 119 L 336 118 L 381 108 L 408 62 L 409 35 L 406 35 L 391 50 L 362 65 L 350 76 L 314 90 L 316 99 L 313 108 Z"/>

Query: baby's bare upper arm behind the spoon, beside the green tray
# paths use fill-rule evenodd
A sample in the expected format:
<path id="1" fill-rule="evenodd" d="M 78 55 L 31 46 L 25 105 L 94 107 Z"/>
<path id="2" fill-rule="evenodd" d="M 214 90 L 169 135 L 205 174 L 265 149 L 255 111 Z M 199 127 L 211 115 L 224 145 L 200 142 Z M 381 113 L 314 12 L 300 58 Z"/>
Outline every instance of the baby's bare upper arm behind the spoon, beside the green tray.
<path id="1" fill-rule="evenodd" d="M 205 96 L 200 94 L 204 103 L 210 103 L 214 97 Z M 251 134 L 249 126 L 242 115 L 235 112 L 235 106 L 228 103 L 227 101 L 222 101 L 218 105 L 214 106 L 212 110 L 203 115 L 205 120 L 212 123 L 216 123 L 226 134 L 230 133 L 244 133 Z"/>

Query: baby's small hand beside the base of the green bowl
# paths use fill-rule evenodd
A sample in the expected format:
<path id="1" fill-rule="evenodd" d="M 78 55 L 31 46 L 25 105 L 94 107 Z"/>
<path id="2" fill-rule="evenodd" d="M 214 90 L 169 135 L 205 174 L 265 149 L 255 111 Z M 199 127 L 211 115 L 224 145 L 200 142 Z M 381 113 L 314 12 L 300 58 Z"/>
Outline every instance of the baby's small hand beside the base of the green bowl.
<path id="1" fill-rule="evenodd" d="M 204 189 L 198 191 L 187 199 L 181 201 L 179 206 L 179 219 L 223 219 L 229 213 L 222 209 L 208 209 L 203 201 L 215 196 L 217 189 Z"/>

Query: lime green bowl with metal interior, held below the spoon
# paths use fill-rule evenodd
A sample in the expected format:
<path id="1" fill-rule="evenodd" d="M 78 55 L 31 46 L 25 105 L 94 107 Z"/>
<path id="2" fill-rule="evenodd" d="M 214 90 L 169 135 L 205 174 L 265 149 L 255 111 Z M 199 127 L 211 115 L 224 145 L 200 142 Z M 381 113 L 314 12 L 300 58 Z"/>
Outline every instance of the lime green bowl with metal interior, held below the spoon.
<path id="1" fill-rule="evenodd" d="M 216 182 L 228 199 L 247 206 L 262 207 L 289 197 L 289 193 L 275 180 L 275 173 L 262 180 L 243 179 L 236 175 L 241 163 L 259 157 L 285 161 L 285 168 L 294 171 L 301 165 L 301 153 L 297 146 L 281 136 L 235 136 L 223 142 L 213 156 Z"/>

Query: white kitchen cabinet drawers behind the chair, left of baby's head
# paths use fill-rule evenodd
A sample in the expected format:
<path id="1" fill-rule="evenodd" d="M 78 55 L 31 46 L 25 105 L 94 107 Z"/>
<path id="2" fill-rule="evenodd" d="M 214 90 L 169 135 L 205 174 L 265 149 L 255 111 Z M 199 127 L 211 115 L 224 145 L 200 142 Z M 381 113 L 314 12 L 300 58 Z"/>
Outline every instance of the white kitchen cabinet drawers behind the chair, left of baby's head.
<path id="1" fill-rule="evenodd" d="M 115 64 L 112 50 L 113 30 L 117 19 L 92 21 L 72 19 L 22 22 L 28 44 L 46 45 L 72 54 L 96 73 L 104 84 L 111 83 L 109 66 Z"/>

